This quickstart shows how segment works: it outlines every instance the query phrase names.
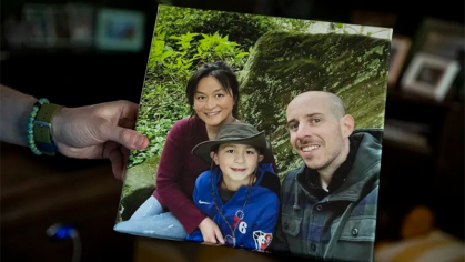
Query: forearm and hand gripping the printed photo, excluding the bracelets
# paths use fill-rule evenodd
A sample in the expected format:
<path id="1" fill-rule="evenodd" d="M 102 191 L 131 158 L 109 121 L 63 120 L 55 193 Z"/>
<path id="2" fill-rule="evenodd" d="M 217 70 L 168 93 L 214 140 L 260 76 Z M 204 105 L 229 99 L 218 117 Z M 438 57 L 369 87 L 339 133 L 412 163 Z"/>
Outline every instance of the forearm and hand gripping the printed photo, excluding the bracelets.
<path id="1" fill-rule="evenodd" d="M 0 140 L 28 147 L 28 119 L 37 99 L 1 85 Z M 133 130 L 139 107 L 120 100 L 81 108 L 62 108 L 53 115 L 53 140 L 69 158 L 110 159 L 113 174 L 125 173 L 130 150 L 142 150 L 149 139 Z"/>

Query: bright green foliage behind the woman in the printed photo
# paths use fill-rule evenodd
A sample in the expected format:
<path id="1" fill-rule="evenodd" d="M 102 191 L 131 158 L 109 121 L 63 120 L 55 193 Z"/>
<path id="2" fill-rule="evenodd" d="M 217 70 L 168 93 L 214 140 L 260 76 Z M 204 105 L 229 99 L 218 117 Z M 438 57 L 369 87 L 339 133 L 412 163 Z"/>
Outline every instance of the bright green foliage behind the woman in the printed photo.
<path id="1" fill-rule="evenodd" d="M 190 114 L 185 84 L 203 63 L 223 60 L 240 74 L 256 40 L 276 31 L 305 31 L 312 21 L 161 6 L 135 129 L 149 137 L 128 168 L 160 155 L 166 133 Z"/>

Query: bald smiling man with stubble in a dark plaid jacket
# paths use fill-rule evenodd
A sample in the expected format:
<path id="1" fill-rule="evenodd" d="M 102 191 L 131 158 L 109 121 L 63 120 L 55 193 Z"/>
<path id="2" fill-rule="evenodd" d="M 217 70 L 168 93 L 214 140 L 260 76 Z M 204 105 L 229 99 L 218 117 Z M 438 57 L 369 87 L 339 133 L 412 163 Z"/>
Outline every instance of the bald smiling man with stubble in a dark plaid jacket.
<path id="1" fill-rule="evenodd" d="M 382 130 L 354 130 L 341 98 L 323 91 L 294 98 L 286 121 L 304 164 L 282 183 L 277 232 L 284 249 L 316 259 L 373 261 Z"/>

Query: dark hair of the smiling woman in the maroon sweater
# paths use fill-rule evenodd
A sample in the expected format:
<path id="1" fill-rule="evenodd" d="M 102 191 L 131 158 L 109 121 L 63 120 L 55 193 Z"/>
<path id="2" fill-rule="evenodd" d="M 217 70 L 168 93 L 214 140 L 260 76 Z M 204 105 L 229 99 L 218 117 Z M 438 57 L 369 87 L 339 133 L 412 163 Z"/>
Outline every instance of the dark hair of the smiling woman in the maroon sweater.
<path id="1" fill-rule="evenodd" d="M 234 105 L 232 110 L 232 115 L 234 118 L 239 118 L 239 81 L 234 71 L 223 61 L 203 64 L 189 79 L 188 85 L 185 87 L 185 95 L 188 97 L 191 115 L 194 114 L 193 105 L 196 87 L 200 80 L 206 77 L 214 77 L 224 88 L 224 90 L 233 97 Z"/>

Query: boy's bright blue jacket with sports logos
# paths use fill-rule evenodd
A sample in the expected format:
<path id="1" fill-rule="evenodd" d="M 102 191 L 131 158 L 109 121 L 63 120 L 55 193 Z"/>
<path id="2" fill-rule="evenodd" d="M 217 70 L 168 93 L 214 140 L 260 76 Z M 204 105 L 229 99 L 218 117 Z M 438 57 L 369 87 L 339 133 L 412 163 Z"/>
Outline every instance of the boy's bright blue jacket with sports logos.
<path id="1" fill-rule="evenodd" d="M 262 163 L 256 172 L 256 181 L 247 203 L 244 208 L 243 220 L 237 221 L 235 214 L 242 210 L 247 196 L 249 187 L 241 187 L 236 193 L 223 205 L 218 193 L 218 183 L 222 172 L 219 168 L 212 170 L 213 193 L 216 204 L 226 218 L 231 228 L 235 228 L 235 248 L 247 250 L 264 251 L 274 236 L 274 228 L 280 215 L 280 179 L 274 173 L 272 164 Z M 221 215 L 218 213 L 210 188 L 210 170 L 199 175 L 195 182 L 193 201 L 206 215 L 209 215 L 220 228 L 223 238 L 228 243 L 232 243 L 232 232 Z M 188 240 L 203 242 L 202 232 L 196 229 L 188 235 Z"/>

